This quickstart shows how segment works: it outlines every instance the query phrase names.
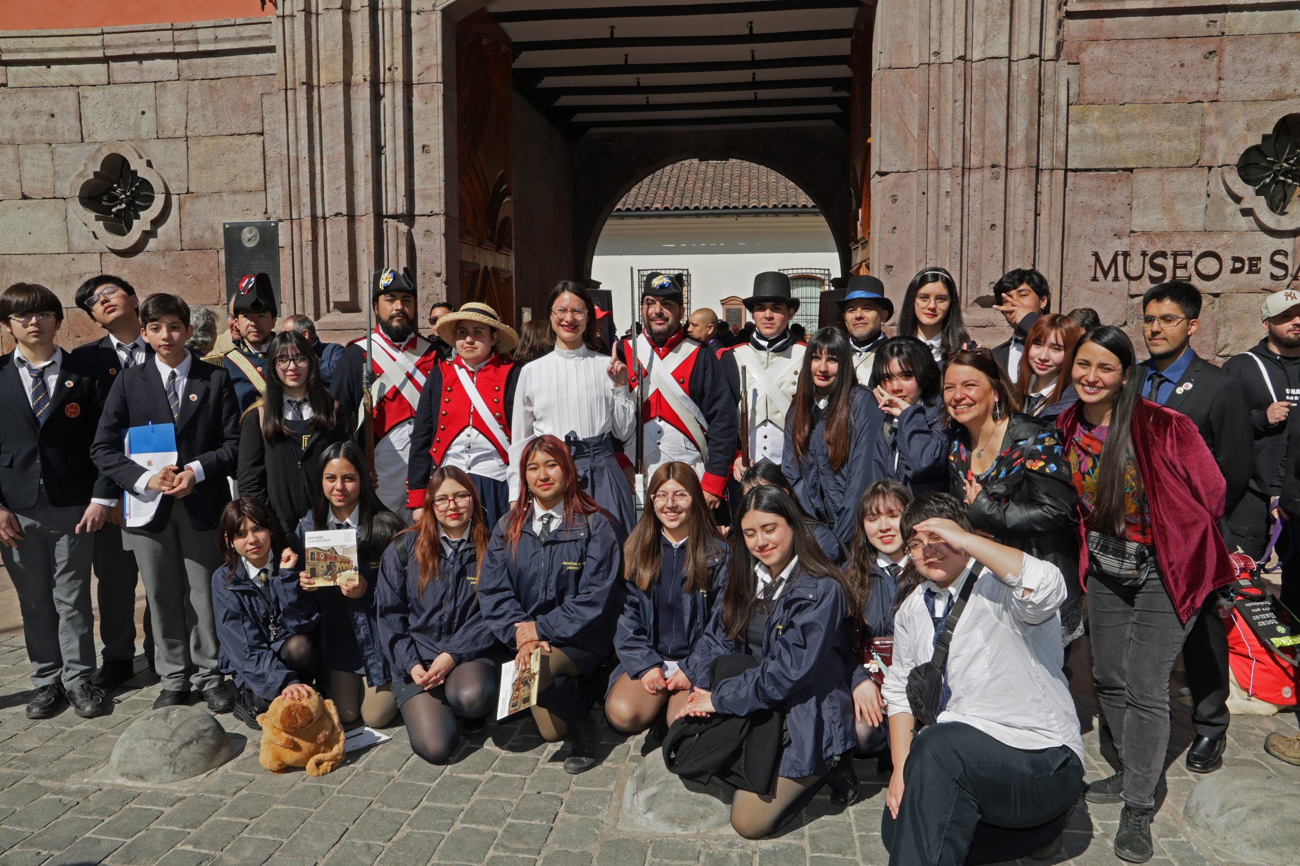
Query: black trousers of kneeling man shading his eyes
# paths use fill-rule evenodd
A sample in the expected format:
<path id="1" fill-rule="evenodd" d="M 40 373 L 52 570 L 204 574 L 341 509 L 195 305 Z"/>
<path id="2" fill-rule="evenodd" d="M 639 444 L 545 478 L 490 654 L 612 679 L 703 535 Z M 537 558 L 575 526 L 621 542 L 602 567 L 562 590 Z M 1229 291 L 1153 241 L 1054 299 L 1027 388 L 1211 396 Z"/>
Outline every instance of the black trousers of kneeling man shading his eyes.
<path id="1" fill-rule="evenodd" d="M 1083 762 L 1067 747 L 1028 752 L 944 722 L 913 739 L 898 819 L 885 809 L 880 835 L 890 866 L 1017 860 L 1065 830 L 1082 791 Z"/>

